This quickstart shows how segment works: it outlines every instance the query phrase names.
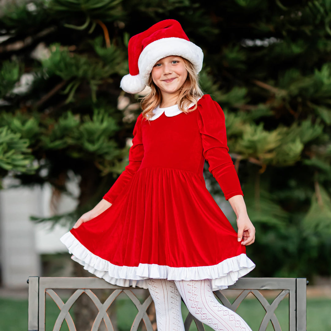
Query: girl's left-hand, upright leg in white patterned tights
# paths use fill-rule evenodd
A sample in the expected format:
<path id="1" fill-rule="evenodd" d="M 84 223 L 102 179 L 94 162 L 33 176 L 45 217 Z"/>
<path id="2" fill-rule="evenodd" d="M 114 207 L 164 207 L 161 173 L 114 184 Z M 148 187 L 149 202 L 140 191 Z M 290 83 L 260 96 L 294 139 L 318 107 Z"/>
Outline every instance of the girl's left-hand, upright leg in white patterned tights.
<path id="1" fill-rule="evenodd" d="M 147 279 L 155 304 L 158 331 L 184 331 L 181 297 L 173 280 Z"/>

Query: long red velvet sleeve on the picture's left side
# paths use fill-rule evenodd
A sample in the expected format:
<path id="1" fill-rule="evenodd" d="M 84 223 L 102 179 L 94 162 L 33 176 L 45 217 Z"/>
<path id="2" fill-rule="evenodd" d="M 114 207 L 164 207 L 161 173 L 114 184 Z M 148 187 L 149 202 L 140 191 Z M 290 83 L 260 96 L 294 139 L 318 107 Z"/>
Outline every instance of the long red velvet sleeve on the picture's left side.
<path id="1" fill-rule="evenodd" d="M 132 146 L 129 149 L 129 164 L 119 175 L 110 190 L 103 196 L 103 199 L 107 200 L 112 204 L 114 203 L 117 196 L 121 193 L 124 186 L 129 182 L 132 176 L 139 169 L 141 161 L 144 157 L 144 146 L 142 143 L 141 133 L 142 118 L 142 114 L 140 114 L 133 128 Z"/>

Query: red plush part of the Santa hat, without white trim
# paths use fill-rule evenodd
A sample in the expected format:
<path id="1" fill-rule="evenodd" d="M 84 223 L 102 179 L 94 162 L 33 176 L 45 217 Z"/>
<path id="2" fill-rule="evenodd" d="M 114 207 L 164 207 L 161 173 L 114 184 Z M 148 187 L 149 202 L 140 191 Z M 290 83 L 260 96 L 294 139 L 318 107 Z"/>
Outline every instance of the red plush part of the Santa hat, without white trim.
<path id="1" fill-rule="evenodd" d="M 153 41 L 162 38 L 182 38 L 189 40 L 182 26 L 176 20 L 163 20 L 152 25 L 147 30 L 132 36 L 128 44 L 129 72 L 135 76 L 139 73 L 138 59 L 142 50 Z"/>

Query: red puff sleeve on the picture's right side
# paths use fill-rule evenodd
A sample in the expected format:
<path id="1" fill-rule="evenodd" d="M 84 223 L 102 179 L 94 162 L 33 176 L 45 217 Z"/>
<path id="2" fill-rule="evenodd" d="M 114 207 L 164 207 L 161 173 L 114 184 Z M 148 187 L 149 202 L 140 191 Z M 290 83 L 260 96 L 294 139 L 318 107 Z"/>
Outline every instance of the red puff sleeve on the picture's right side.
<path id="1" fill-rule="evenodd" d="M 199 100 L 197 110 L 203 156 L 209 163 L 209 171 L 223 191 L 225 200 L 235 195 L 243 196 L 237 172 L 228 153 L 222 108 L 206 94 Z"/>

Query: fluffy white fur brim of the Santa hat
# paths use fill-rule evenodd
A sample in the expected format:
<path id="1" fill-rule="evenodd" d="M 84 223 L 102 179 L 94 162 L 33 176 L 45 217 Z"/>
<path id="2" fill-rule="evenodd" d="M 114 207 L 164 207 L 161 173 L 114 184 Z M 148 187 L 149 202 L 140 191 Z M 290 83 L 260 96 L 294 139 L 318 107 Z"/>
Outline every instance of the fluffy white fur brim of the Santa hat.
<path id="1" fill-rule="evenodd" d="M 178 55 L 189 60 L 194 65 L 196 73 L 202 69 L 204 53 L 199 46 L 183 38 L 162 38 L 147 45 L 139 56 L 139 74 L 146 85 L 155 63 L 170 55 Z"/>

